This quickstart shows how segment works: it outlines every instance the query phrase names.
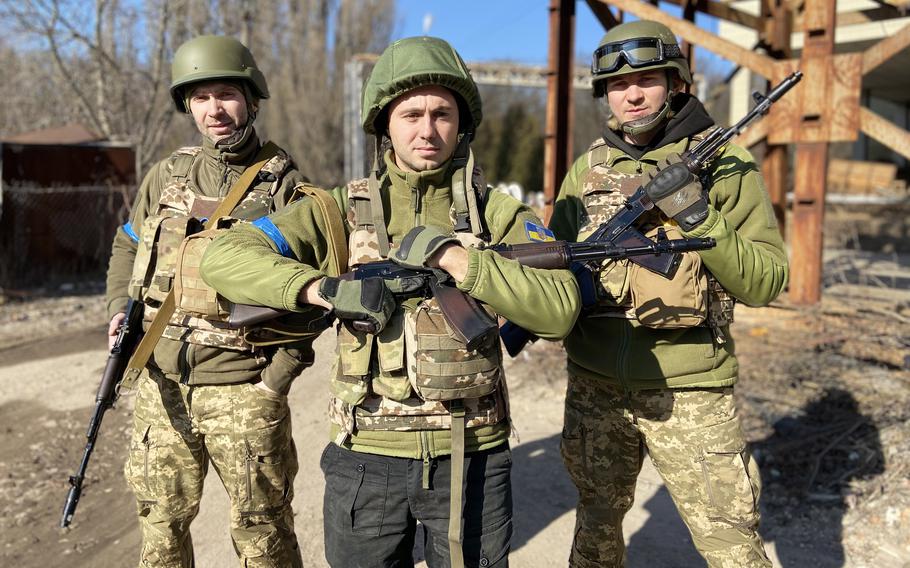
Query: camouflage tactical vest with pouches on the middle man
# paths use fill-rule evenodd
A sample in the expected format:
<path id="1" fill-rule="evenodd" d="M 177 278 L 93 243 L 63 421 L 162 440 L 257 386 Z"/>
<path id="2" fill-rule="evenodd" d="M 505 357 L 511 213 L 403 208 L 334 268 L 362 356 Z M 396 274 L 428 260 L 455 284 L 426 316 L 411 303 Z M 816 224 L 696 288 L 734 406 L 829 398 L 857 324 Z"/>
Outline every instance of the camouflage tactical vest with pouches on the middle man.
<path id="1" fill-rule="evenodd" d="M 476 172 L 474 187 L 486 187 Z M 351 267 L 384 260 L 369 180 L 353 181 L 347 190 Z M 468 201 L 476 203 L 482 196 L 472 197 Z M 449 212 L 453 226 L 464 216 L 454 203 Z M 479 208 L 471 213 L 470 218 L 481 218 Z M 469 225 L 456 231 L 464 246 L 488 240 L 481 224 Z M 403 302 L 376 336 L 339 325 L 336 366 L 330 416 L 342 438 L 355 429 L 449 429 L 453 401 L 463 402 L 468 428 L 508 416 L 498 337 L 469 351 L 454 337 L 434 298 Z"/>

